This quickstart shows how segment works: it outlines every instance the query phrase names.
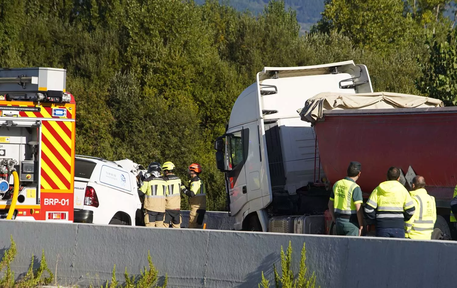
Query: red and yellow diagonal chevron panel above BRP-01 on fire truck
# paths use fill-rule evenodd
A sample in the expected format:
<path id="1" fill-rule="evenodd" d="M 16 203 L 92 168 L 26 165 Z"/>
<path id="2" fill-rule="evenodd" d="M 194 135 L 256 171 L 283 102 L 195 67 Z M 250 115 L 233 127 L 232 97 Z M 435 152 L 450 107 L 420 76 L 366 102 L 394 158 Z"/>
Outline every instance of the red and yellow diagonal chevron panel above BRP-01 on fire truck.
<path id="1" fill-rule="evenodd" d="M 42 121 L 41 189 L 72 188 L 73 126 L 69 121 Z"/>

